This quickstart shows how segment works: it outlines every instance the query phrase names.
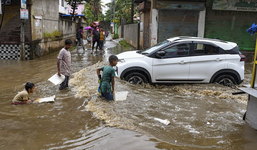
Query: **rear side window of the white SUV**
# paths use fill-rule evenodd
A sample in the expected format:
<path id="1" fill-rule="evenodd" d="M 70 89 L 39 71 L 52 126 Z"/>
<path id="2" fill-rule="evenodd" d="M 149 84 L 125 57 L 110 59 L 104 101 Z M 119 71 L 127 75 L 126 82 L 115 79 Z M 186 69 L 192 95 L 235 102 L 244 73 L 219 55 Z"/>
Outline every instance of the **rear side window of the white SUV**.
<path id="1" fill-rule="evenodd" d="M 210 44 L 195 44 L 194 55 L 219 54 L 219 47 Z"/>

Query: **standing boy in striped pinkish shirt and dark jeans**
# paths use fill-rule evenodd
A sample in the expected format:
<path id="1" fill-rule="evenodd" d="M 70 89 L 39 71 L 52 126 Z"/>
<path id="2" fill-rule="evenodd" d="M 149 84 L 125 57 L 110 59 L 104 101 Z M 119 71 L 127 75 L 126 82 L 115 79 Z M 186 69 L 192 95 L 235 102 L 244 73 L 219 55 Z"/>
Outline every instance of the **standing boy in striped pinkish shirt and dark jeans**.
<path id="1" fill-rule="evenodd" d="M 71 74 L 71 53 L 69 49 L 72 45 L 71 39 L 65 40 L 65 46 L 60 50 L 60 53 L 57 56 L 57 69 L 58 76 L 65 75 L 65 80 L 60 84 L 59 90 L 65 89 L 68 87 L 69 77 Z"/>

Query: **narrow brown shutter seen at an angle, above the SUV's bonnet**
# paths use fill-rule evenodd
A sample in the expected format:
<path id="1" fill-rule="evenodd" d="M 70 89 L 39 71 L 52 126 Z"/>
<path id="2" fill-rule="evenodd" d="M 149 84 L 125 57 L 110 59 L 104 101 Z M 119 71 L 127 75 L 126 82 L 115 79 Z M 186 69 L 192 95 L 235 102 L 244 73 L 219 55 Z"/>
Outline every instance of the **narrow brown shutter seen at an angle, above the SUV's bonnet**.
<path id="1" fill-rule="evenodd" d="M 144 12 L 144 49 L 149 48 L 150 39 L 150 11 Z"/>

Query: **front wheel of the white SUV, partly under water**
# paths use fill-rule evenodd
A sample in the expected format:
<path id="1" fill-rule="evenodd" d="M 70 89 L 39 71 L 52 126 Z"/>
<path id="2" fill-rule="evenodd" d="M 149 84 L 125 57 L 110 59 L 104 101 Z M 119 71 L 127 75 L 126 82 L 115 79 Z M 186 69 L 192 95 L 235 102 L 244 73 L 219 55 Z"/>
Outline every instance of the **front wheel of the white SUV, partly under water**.
<path id="1" fill-rule="evenodd" d="M 131 73 L 128 76 L 126 76 L 125 80 L 132 84 L 148 83 L 146 77 L 140 73 Z"/>

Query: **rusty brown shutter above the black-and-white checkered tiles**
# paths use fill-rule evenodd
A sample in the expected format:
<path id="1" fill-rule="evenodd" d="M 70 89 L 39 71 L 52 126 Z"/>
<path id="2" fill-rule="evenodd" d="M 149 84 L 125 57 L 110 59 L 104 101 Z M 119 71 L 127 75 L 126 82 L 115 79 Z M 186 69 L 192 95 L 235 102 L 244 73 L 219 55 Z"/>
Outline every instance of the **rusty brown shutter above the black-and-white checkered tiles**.
<path id="1" fill-rule="evenodd" d="M 27 26 L 24 27 L 25 44 L 29 44 L 31 40 L 30 8 L 27 7 L 27 9 L 29 10 L 29 19 L 27 20 Z M 0 16 L 1 19 L 2 15 Z M 0 44 L 20 44 L 20 22 L 20 5 L 6 5 L 0 30 Z"/>

